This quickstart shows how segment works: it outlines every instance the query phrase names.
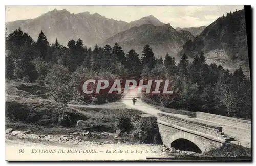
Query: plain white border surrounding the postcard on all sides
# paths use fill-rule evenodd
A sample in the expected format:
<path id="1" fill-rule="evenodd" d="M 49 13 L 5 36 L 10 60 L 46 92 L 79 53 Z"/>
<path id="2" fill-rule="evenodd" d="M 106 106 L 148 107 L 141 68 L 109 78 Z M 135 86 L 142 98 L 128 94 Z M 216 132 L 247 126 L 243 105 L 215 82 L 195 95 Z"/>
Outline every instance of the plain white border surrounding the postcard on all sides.
<path id="1" fill-rule="evenodd" d="M 5 120 L 4 120 L 4 114 L 5 114 L 5 40 L 4 40 L 4 31 L 5 31 L 5 6 L 6 5 L 252 5 L 252 8 L 253 6 L 255 6 L 256 1 L 241 1 L 241 0 L 233 0 L 233 1 L 223 1 L 223 0 L 215 0 L 215 1 L 198 1 L 198 0 L 194 0 L 194 1 L 166 1 L 166 0 L 157 0 L 157 1 L 152 1 L 152 0 L 148 0 L 148 1 L 138 1 L 138 0 L 129 0 L 129 1 L 117 1 L 117 0 L 98 0 L 98 1 L 80 1 L 80 2 L 74 2 L 74 1 L 67 1 L 67 0 L 61 0 L 61 1 L 51 1 L 51 0 L 44 0 L 44 1 L 25 1 L 25 0 L 22 0 L 22 1 L 18 1 L 18 0 L 12 0 L 12 1 L 8 1 L 8 2 L 4 2 L 4 1 L 1 1 L 1 23 L 2 25 L 0 26 L 1 27 L 1 30 L 2 33 L 1 34 L 1 39 L 2 39 L 2 42 L 1 42 L 1 56 L 0 56 L 0 67 L 1 67 L 1 72 L 0 72 L 0 78 L 1 78 L 1 86 L 0 86 L 0 94 L 1 94 L 1 101 L 2 101 L 2 104 L 0 104 L 1 106 L 1 114 L 2 114 L 2 124 L 1 124 L 1 143 L 3 144 L 3 146 L 1 146 L 1 150 L 2 150 L 2 158 L 1 158 L 1 162 L 3 162 L 3 165 L 7 165 L 8 163 L 5 161 Z M 230 4 L 232 3 L 232 4 Z M 254 11 L 255 12 L 255 11 Z M 22 13 L 20 13 L 22 14 Z M 254 16 L 254 14 L 253 14 Z M 255 22 L 255 17 L 253 17 L 253 22 Z M 252 26 L 254 27 L 253 30 L 255 29 L 255 26 Z M 252 31 L 253 31 L 252 30 Z M 255 38 L 255 33 L 253 33 L 253 39 Z M 253 40 L 252 39 L 252 40 Z M 255 48 L 255 42 L 253 42 L 253 48 Z M 252 56 L 253 57 L 253 56 Z M 253 64 L 255 64 L 255 61 L 256 59 L 253 58 Z M 255 74 L 255 70 L 254 68 L 253 69 L 253 73 Z M 252 80 L 253 81 L 253 80 Z M 253 81 L 254 82 L 254 81 Z M 255 83 L 255 82 L 254 82 Z M 254 84 L 253 84 L 254 86 Z M 254 92 L 254 89 L 253 89 L 253 92 Z M 253 98 L 253 102 L 252 103 L 255 103 L 256 99 Z M 252 110 L 253 112 L 253 110 Z M 253 120 L 255 121 L 255 113 L 253 114 Z M 253 123 L 255 124 L 255 123 Z M 254 126 L 253 126 L 254 128 Z M 254 133 L 253 133 L 254 135 Z M 253 136 L 254 138 L 254 136 Z M 255 139 L 254 139 L 255 140 Z M 255 144 L 255 143 L 254 143 Z M 254 145 L 253 144 L 253 145 Z M 253 150 L 254 150 L 254 147 L 253 147 Z M 254 154 L 254 153 L 253 153 Z M 255 155 L 253 156 L 253 159 L 255 159 Z M 124 162 L 123 162 L 124 163 Z M 13 163 L 14 164 L 14 163 Z M 16 163 L 17 164 L 17 163 Z M 27 165 L 27 164 L 33 164 L 34 163 L 19 163 L 19 165 Z M 38 163 L 39 164 L 39 163 Z M 55 165 L 55 164 L 68 164 L 68 165 L 75 165 L 77 164 L 77 162 L 74 162 L 74 163 L 40 163 L 40 164 L 47 164 L 47 165 Z M 101 163 L 87 163 L 87 162 L 83 162 L 81 164 L 86 164 L 86 165 L 91 165 L 91 164 L 121 164 L 120 162 L 101 162 Z M 159 164 L 154 162 L 154 163 L 151 163 L 151 162 L 139 162 L 139 163 L 131 163 L 131 162 L 127 162 L 125 164 L 129 164 L 129 165 L 140 165 L 140 164 Z M 218 165 L 231 165 L 231 164 L 245 164 L 245 163 L 236 163 L 236 162 L 233 162 L 233 163 L 221 163 L 221 162 L 217 162 L 217 163 L 214 163 L 214 162 L 207 162 L 207 163 L 189 163 L 189 162 L 182 162 L 182 163 L 177 163 L 177 162 L 164 162 L 164 164 L 172 164 L 172 165 L 178 165 L 178 164 L 218 164 Z M 2 163 L 1 163 L 2 165 Z"/>

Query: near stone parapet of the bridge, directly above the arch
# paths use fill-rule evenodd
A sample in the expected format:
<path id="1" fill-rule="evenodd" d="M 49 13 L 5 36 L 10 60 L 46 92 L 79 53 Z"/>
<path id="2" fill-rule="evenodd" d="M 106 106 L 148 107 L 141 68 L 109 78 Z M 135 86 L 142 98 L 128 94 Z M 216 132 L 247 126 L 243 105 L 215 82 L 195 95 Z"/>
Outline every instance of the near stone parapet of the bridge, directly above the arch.
<path id="1" fill-rule="evenodd" d="M 178 117 L 173 115 L 167 115 L 158 113 L 158 121 L 167 122 L 168 124 L 180 126 L 186 129 L 194 130 L 197 132 L 205 133 L 208 135 L 222 137 L 222 127 L 211 125 L 209 122 L 200 121 L 198 119 L 188 117 Z"/>

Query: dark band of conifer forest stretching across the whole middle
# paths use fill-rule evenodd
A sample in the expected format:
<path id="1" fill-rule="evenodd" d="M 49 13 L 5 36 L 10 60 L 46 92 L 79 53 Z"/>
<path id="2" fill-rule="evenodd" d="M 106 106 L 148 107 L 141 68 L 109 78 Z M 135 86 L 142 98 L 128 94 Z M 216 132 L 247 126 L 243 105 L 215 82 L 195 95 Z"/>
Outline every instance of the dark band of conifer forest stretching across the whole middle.
<path id="1" fill-rule="evenodd" d="M 120 94 L 84 94 L 82 82 L 88 79 L 169 79 L 173 94 L 145 94 L 162 106 L 202 111 L 230 117 L 250 118 L 251 83 L 240 67 L 234 73 L 221 65 L 206 64 L 201 53 L 180 61 L 166 53 L 156 58 L 146 44 L 142 55 L 131 49 L 125 53 L 118 43 L 93 48 L 81 39 L 68 41 L 67 47 L 49 44 L 41 31 L 37 41 L 21 29 L 6 37 L 6 78 L 38 82 L 49 89 L 49 97 L 66 104 L 79 100 L 102 104 L 120 99 Z"/>

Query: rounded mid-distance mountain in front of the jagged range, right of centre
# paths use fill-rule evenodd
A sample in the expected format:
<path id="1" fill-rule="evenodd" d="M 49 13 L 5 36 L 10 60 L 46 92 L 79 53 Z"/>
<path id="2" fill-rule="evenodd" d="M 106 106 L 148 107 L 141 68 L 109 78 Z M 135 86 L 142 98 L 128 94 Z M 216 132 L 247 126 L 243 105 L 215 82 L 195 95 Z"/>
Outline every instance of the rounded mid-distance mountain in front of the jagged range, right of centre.
<path id="1" fill-rule="evenodd" d="M 182 46 L 188 40 L 193 40 L 193 38 L 194 36 L 190 32 L 178 32 L 170 24 L 162 26 L 143 24 L 106 39 L 102 45 L 109 44 L 113 46 L 117 42 L 124 52 L 128 52 L 133 48 L 137 53 L 141 54 L 143 47 L 149 44 L 155 56 L 164 57 L 167 52 L 171 56 L 176 56 L 181 51 Z"/>

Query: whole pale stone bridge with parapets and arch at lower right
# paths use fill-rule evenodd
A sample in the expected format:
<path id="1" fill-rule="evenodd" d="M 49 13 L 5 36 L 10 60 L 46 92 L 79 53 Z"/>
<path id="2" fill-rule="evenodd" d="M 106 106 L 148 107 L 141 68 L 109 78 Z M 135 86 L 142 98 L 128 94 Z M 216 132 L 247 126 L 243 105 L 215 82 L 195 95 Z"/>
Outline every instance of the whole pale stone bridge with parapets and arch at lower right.
<path id="1" fill-rule="evenodd" d="M 158 113 L 157 123 L 163 144 L 179 150 L 204 153 L 223 143 L 250 146 L 248 120 L 197 112 L 197 117 Z"/>

